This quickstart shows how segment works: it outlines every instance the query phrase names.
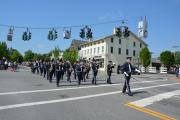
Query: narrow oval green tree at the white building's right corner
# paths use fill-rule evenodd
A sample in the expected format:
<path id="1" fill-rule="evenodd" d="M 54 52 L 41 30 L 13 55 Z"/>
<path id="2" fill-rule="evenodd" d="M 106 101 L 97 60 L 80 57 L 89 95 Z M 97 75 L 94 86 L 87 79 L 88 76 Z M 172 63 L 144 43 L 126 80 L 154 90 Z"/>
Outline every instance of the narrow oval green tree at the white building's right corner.
<path id="1" fill-rule="evenodd" d="M 140 61 L 141 61 L 142 65 L 145 67 L 145 69 L 150 65 L 151 53 L 147 47 L 143 48 L 140 51 Z"/>

